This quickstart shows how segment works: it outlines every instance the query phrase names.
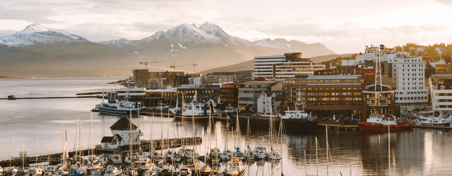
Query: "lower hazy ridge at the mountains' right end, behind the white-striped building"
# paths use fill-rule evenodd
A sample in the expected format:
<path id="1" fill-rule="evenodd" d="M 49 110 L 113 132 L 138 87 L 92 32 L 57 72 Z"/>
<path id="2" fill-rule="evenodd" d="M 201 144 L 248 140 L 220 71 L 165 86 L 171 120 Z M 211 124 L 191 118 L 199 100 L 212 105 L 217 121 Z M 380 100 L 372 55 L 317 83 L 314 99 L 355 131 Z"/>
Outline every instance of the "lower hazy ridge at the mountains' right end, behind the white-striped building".
<path id="1" fill-rule="evenodd" d="M 253 43 L 268 48 L 284 49 L 285 52 L 302 52 L 303 57 L 336 54 L 335 52 L 326 48 L 326 46 L 322 43 L 307 44 L 298 40 L 287 41 L 284 38 L 275 38 L 273 40 L 271 40 L 270 38 L 265 38 Z"/>

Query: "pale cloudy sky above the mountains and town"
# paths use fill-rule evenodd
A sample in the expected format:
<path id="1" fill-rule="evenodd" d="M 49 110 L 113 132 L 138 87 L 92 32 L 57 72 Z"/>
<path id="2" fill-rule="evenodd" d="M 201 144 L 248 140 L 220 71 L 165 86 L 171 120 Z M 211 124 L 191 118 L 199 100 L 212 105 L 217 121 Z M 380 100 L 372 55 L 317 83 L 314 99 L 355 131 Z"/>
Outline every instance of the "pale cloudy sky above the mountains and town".
<path id="1" fill-rule="evenodd" d="M 132 40 L 207 21 L 251 42 L 285 38 L 344 54 L 452 43 L 451 11 L 452 0 L 0 0 L 0 36 L 39 23 L 91 41 Z"/>

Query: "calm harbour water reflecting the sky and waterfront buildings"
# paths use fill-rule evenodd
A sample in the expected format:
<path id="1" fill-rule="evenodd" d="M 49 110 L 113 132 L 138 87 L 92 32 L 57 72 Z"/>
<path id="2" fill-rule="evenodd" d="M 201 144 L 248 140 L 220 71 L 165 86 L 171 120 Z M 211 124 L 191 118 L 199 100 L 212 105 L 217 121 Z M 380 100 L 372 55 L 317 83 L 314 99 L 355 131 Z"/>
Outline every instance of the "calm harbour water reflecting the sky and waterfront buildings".
<path id="1" fill-rule="evenodd" d="M 63 91 L 63 96 L 75 95 L 91 90 L 114 89 L 114 85 L 105 84 L 118 78 L 71 78 L 71 79 L 18 79 L 0 80 L 0 92 L 16 92 L 16 95 L 27 96 L 28 91 L 41 92 L 41 96 L 52 96 Z M 18 96 L 19 97 L 19 96 Z M 69 147 L 74 147 L 75 126 L 77 116 L 82 121 L 83 145 L 89 145 L 89 109 L 102 101 L 97 98 L 81 99 L 35 99 L 35 100 L 0 100 L 0 159 L 9 157 L 11 153 L 18 156 L 24 150 L 28 154 L 36 153 L 36 137 L 38 135 L 38 153 L 62 149 L 62 125 L 67 130 Z M 118 120 L 117 116 L 93 114 L 93 143 L 99 144 L 103 136 L 111 136 L 109 127 Z M 138 122 L 139 121 L 139 122 Z M 154 125 L 151 125 L 153 121 Z M 193 124 L 183 126 L 179 121 L 171 118 L 144 117 L 133 118 L 133 123 L 140 124 L 144 133 L 142 139 L 174 138 L 202 136 L 203 143 L 197 146 L 204 155 L 208 138 L 207 124 Z M 215 123 L 215 133 L 212 133 L 210 146 L 225 148 L 226 123 Z M 268 132 L 254 131 L 251 124 L 250 147 L 268 143 Z M 318 164 L 315 154 L 315 137 L 319 143 Z M 246 175 L 270 176 L 271 166 L 274 165 L 274 175 L 281 175 L 281 167 L 286 176 L 317 174 L 326 176 L 326 133 L 321 130 L 313 134 L 289 134 L 282 139 L 282 161 L 250 163 L 250 170 Z M 339 176 L 350 175 L 388 175 L 388 134 L 362 134 L 359 132 L 328 131 L 331 158 L 329 174 Z M 245 148 L 246 137 L 233 140 L 229 133 L 227 145 L 233 148 L 239 145 Z M 24 143 L 24 145 L 22 144 Z M 280 145 L 273 147 L 281 151 Z M 306 162 L 304 151 L 306 151 Z M 452 173 L 452 133 L 450 131 L 414 129 L 410 132 L 391 133 L 391 172 L 392 175 L 407 176 L 449 176 Z M 332 164 L 331 164 L 332 161 Z M 351 167 L 350 167 L 351 165 Z"/>

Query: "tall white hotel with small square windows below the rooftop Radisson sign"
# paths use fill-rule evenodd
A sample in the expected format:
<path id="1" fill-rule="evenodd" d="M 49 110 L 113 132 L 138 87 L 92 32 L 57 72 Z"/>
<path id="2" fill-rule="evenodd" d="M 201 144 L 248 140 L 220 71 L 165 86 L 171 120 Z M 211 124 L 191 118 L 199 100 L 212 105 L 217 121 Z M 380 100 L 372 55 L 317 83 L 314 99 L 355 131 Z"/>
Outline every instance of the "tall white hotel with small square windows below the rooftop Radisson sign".
<path id="1" fill-rule="evenodd" d="M 401 109 L 414 109 L 427 105 L 428 90 L 424 85 L 425 64 L 422 62 L 422 56 L 409 56 L 405 52 L 381 52 L 380 54 L 381 64 L 388 67 L 382 69 L 382 74 L 392 77 L 395 83 L 395 103 L 398 103 Z M 356 56 L 354 65 L 375 63 L 376 58 L 376 52 L 363 53 Z"/>

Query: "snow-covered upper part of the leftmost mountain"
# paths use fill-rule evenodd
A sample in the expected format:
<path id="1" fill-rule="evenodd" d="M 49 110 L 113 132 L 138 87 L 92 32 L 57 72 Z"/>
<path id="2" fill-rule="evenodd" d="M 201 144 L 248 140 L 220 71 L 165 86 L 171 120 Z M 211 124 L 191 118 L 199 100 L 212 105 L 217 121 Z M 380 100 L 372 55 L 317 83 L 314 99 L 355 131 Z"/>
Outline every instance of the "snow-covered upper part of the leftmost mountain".
<path id="1" fill-rule="evenodd" d="M 70 43 L 80 41 L 89 42 L 88 39 L 79 35 L 62 30 L 46 28 L 40 24 L 30 24 L 24 30 L 0 37 L 0 44 L 9 46 L 29 46 L 41 43 Z"/>

